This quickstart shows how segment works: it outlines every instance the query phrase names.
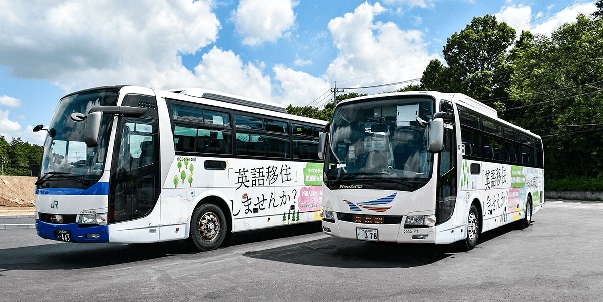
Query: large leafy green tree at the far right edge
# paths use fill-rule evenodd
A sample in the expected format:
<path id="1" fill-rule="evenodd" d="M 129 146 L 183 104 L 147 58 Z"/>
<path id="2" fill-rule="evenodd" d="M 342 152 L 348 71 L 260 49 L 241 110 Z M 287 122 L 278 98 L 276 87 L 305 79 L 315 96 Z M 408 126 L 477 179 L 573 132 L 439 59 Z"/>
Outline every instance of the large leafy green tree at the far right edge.
<path id="1" fill-rule="evenodd" d="M 523 42 L 502 113 L 544 137 L 547 179 L 603 175 L 603 20 L 580 14 Z"/>

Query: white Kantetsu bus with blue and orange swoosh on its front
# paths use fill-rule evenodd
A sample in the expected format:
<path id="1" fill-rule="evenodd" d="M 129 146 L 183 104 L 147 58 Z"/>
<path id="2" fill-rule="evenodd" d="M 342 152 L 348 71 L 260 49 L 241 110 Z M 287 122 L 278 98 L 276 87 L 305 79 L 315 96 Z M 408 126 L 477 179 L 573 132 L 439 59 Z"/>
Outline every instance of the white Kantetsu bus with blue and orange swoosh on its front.
<path id="1" fill-rule="evenodd" d="M 338 104 L 321 134 L 324 233 L 459 242 L 544 204 L 540 137 L 464 94 L 412 91 Z"/>

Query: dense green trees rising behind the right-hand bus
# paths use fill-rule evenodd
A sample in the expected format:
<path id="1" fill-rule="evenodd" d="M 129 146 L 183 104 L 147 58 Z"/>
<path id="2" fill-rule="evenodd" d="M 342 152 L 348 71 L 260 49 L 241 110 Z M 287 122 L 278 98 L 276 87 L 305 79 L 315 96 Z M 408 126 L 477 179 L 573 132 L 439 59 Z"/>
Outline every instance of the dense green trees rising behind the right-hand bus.
<path id="1" fill-rule="evenodd" d="M 469 95 L 543 138 L 546 180 L 599 179 L 592 190 L 603 190 L 603 0 L 596 6 L 551 36 L 518 36 L 496 16 L 475 17 L 447 39 L 445 63 L 432 60 L 420 85 L 397 91 Z M 287 110 L 309 112 L 291 105 Z M 332 112 L 315 109 L 305 116 L 330 120 Z"/>

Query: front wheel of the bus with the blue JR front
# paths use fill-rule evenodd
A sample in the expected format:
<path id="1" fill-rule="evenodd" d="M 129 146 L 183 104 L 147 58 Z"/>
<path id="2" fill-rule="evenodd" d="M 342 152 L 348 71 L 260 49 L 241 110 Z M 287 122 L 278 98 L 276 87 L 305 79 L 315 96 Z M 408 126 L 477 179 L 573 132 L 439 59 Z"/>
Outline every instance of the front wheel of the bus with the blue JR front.
<path id="1" fill-rule="evenodd" d="M 203 204 L 191 217 L 191 234 L 186 240 L 201 251 L 218 248 L 226 237 L 226 216 L 218 205 Z"/>

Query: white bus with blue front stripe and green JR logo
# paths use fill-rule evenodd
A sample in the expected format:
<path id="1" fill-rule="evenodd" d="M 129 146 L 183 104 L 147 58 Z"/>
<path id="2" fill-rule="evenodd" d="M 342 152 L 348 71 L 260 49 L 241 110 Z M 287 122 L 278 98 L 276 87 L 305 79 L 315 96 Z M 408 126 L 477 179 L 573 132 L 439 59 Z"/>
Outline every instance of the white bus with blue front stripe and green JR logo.
<path id="1" fill-rule="evenodd" d="M 68 94 L 45 129 L 37 233 L 68 242 L 186 239 L 207 251 L 231 232 L 317 222 L 325 125 L 199 88 Z"/>

